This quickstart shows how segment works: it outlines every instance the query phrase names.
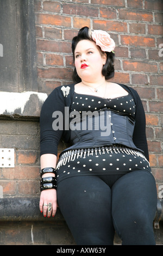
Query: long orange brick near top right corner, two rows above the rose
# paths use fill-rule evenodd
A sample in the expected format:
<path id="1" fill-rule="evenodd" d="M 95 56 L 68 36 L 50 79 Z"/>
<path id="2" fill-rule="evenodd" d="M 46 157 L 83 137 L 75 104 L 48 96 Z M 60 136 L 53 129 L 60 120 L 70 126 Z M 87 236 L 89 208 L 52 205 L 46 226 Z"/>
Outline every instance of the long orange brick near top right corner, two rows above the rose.
<path id="1" fill-rule="evenodd" d="M 118 10 L 119 19 L 121 20 L 134 20 L 134 21 L 153 21 L 153 14 L 146 13 L 145 11 L 132 11 L 129 9 Z"/>

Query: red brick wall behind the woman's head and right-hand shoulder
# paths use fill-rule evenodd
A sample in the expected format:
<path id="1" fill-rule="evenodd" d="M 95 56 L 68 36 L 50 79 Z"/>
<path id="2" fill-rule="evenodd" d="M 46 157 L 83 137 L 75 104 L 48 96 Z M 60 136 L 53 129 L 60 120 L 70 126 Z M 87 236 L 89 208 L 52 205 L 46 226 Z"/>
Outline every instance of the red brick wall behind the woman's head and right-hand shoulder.
<path id="1" fill-rule="evenodd" d="M 115 40 L 115 77 L 132 86 L 146 112 L 150 162 L 163 185 L 163 58 L 161 0 L 35 1 L 40 92 L 72 82 L 71 39 L 83 26 L 103 29 Z"/>

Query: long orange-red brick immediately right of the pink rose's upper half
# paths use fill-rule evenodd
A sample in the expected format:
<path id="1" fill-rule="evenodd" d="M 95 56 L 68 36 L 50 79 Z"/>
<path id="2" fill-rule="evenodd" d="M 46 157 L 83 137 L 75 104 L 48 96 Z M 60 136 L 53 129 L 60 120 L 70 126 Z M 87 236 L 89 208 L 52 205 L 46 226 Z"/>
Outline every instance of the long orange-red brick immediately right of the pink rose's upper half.
<path id="1" fill-rule="evenodd" d="M 148 36 L 121 35 L 122 45 L 155 47 L 155 39 Z"/>

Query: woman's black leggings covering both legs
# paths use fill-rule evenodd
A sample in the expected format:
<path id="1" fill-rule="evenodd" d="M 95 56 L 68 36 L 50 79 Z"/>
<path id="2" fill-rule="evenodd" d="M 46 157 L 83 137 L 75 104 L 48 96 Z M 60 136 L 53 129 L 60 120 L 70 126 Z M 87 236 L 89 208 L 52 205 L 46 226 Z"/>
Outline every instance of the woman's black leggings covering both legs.
<path id="1" fill-rule="evenodd" d="M 112 181 L 112 184 L 111 184 Z M 73 176 L 58 184 L 58 204 L 77 245 L 155 245 L 157 193 L 153 175 Z"/>

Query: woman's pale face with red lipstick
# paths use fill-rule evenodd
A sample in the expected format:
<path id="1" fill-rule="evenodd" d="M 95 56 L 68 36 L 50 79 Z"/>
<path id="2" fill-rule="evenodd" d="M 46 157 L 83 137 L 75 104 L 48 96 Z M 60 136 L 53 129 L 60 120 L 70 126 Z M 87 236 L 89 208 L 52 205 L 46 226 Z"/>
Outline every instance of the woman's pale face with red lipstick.
<path id="1" fill-rule="evenodd" d="M 102 77 L 106 55 L 99 52 L 96 43 L 90 40 L 78 42 L 74 51 L 77 74 L 83 81 L 93 82 Z"/>

